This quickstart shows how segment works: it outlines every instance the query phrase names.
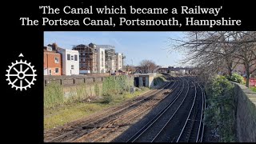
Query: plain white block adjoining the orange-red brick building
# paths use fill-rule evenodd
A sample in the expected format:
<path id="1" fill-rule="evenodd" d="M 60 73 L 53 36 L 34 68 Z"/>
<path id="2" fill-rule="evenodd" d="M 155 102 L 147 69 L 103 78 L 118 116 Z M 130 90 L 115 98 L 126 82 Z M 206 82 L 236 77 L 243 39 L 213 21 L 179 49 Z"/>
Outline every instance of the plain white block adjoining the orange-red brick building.
<path id="1" fill-rule="evenodd" d="M 58 52 L 62 54 L 62 74 L 79 74 L 78 50 L 66 50 L 58 47 Z"/>

